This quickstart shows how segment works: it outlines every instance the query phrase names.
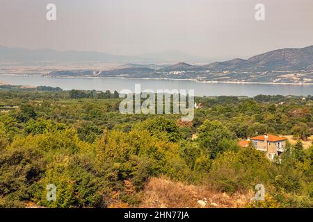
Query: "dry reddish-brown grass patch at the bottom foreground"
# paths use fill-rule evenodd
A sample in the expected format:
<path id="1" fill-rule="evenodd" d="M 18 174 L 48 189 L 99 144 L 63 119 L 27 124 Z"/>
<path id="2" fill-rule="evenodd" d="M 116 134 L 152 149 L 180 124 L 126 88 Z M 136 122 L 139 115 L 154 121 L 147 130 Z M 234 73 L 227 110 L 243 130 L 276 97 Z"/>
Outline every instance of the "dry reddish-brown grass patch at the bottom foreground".
<path id="1" fill-rule="evenodd" d="M 211 191 L 206 187 L 184 185 L 166 178 L 151 178 L 143 191 L 143 200 L 139 207 L 157 208 L 199 208 L 198 200 L 206 203 L 206 208 L 244 207 L 250 202 L 253 193 L 234 194 Z"/>

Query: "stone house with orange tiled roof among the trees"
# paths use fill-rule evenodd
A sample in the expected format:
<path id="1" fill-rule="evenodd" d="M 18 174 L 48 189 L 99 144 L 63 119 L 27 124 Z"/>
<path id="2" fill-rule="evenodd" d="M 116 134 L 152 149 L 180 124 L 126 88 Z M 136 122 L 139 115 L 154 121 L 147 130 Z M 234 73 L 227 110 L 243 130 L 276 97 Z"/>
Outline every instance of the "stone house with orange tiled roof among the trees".
<path id="1" fill-rule="evenodd" d="M 238 144 L 244 148 L 248 146 L 250 141 L 257 150 L 266 153 L 266 157 L 268 157 L 270 160 L 273 160 L 276 155 L 280 157 L 282 152 L 284 152 L 287 139 L 284 137 L 278 137 L 276 135 L 264 133 L 264 135 L 259 135 L 257 137 L 248 138 L 245 141 L 240 141 Z"/>

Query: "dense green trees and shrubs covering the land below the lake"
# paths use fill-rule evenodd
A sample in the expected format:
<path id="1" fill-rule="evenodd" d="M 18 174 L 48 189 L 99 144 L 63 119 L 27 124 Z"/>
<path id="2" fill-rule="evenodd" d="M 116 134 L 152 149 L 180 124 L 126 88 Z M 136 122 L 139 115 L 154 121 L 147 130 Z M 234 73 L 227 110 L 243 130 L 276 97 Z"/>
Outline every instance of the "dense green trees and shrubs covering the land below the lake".
<path id="1" fill-rule="evenodd" d="M 313 205 L 312 146 L 287 144 L 270 162 L 237 145 L 265 132 L 307 139 L 312 96 L 196 98 L 202 108 L 182 126 L 177 115 L 122 115 L 116 93 L 38 90 L 0 91 L 0 108 L 18 106 L 0 114 L 0 207 L 136 206 L 147 180 L 161 176 L 230 195 L 262 183 L 266 200 L 247 207 Z"/>

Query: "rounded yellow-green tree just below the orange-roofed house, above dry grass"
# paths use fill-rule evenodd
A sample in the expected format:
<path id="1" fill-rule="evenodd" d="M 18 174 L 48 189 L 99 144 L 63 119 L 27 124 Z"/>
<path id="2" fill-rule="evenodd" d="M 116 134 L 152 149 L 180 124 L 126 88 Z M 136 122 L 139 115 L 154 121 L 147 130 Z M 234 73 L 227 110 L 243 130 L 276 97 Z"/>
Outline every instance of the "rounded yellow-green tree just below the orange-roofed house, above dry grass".
<path id="1" fill-rule="evenodd" d="M 248 146 L 239 152 L 219 154 L 212 162 L 209 182 L 212 187 L 234 193 L 247 191 L 257 184 L 268 184 L 270 162 L 264 153 Z"/>

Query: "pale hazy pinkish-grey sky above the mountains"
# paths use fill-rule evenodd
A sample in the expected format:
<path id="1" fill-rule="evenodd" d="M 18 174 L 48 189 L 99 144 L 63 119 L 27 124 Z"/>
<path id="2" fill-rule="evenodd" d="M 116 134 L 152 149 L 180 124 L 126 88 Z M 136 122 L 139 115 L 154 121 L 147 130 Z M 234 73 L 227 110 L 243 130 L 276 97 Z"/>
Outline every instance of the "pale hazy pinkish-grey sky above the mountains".
<path id="1" fill-rule="evenodd" d="M 313 44 L 312 0 L 0 0 L 0 45 L 209 59 Z M 45 18 L 55 3 L 57 20 Z M 264 3 L 266 20 L 255 20 Z"/>

